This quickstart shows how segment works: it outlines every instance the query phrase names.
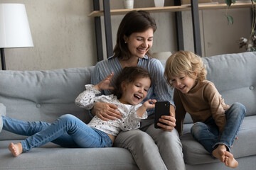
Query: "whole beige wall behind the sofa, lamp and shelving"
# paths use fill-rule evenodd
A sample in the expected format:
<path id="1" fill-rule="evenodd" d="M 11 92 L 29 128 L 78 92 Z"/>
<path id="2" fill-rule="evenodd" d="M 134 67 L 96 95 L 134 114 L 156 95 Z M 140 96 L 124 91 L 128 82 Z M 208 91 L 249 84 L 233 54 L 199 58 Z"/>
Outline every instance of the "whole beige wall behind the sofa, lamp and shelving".
<path id="1" fill-rule="evenodd" d="M 134 0 L 134 8 L 152 7 L 154 0 Z M 102 0 L 100 0 L 102 3 Z M 173 1 L 166 0 L 169 6 Z M 0 0 L 25 4 L 34 47 L 6 49 L 6 69 L 46 70 L 87 67 L 97 62 L 92 0 Z M 102 7 L 102 4 L 101 4 Z M 110 0 L 110 7 L 123 8 L 122 0 Z M 230 9 L 234 25 L 228 26 L 225 10 L 200 11 L 203 56 L 242 52 L 237 40 L 250 34 L 250 9 Z M 151 13 L 158 29 L 152 52 L 176 51 L 174 13 Z M 112 16 L 113 46 L 123 16 Z M 102 18 L 102 26 L 104 26 Z M 193 51 L 191 12 L 183 12 L 185 50 Z M 102 30 L 104 33 L 104 29 Z M 105 37 L 103 34 L 104 50 Z M 0 66 L 1 67 L 1 66 Z"/>

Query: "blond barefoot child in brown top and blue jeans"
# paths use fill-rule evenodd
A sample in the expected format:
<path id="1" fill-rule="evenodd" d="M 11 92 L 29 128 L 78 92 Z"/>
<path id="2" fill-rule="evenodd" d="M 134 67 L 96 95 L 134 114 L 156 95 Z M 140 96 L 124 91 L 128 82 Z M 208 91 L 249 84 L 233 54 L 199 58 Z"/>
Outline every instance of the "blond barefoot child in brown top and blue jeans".
<path id="1" fill-rule="evenodd" d="M 215 85 L 206 80 L 206 67 L 201 57 L 193 52 L 180 51 L 171 55 L 166 61 L 164 77 L 174 87 L 178 132 L 182 132 L 183 120 L 189 113 L 194 123 L 193 137 L 213 157 L 236 168 L 238 162 L 230 153 L 230 147 L 245 117 L 245 106 L 224 103 Z"/>

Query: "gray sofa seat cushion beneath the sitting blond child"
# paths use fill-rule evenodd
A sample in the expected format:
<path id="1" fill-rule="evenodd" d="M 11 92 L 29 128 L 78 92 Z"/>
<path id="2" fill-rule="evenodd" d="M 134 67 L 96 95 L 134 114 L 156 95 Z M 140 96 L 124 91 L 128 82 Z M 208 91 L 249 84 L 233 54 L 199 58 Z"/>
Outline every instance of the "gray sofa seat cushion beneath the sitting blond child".
<path id="1" fill-rule="evenodd" d="M 184 126 L 181 143 L 183 147 L 184 161 L 186 164 L 208 164 L 220 162 L 213 159 L 209 152 L 203 146 L 193 139 L 190 129 L 193 124 L 189 123 Z M 233 143 L 231 153 L 235 158 L 250 157 L 256 155 L 256 115 L 245 117 L 238 132 L 238 140 Z M 255 159 L 256 161 L 256 159 Z"/>

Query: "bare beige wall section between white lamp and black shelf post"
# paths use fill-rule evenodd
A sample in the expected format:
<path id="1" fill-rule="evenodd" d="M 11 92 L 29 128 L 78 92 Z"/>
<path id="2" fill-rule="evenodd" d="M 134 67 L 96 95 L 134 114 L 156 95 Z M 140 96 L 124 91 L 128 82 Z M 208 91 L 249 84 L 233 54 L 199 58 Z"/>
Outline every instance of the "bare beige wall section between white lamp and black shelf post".
<path id="1" fill-rule="evenodd" d="M 85 67 L 97 61 L 90 0 L 1 0 L 25 4 L 34 47 L 5 50 L 6 69 Z"/>

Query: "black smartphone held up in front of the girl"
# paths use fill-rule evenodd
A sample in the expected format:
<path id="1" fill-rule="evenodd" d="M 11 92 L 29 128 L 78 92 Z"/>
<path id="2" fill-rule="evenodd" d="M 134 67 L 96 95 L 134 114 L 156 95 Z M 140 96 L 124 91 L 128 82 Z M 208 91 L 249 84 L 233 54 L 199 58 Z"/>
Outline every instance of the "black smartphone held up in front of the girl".
<path id="1" fill-rule="evenodd" d="M 155 105 L 155 120 L 154 120 L 154 127 L 161 128 L 156 125 L 159 122 L 159 118 L 162 115 L 170 115 L 170 102 L 169 101 L 157 101 Z M 164 123 L 162 123 L 164 124 Z"/>

